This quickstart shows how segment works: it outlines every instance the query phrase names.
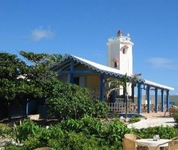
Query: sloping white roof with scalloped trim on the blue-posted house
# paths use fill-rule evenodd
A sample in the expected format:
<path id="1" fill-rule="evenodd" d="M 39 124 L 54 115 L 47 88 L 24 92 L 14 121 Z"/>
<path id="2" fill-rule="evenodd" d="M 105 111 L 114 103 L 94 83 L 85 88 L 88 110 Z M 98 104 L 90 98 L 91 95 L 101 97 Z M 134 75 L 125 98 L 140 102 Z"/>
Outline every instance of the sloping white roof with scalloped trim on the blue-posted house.
<path id="1" fill-rule="evenodd" d="M 61 60 L 61 62 L 59 64 L 55 64 L 52 68 L 54 70 L 59 70 L 59 71 L 63 71 L 65 69 L 69 69 L 70 68 L 70 61 L 73 60 L 74 61 L 74 66 L 78 65 L 78 64 L 83 64 L 89 68 L 91 68 L 92 70 L 98 72 L 98 73 L 104 73 L 106 75 L 112 76 L 112 77 L 118 77 L 118 78 L 123 78 L 124 77 L 124 73 L 122 73 L 120 70 L 118 69 L 114 69 L 105 65 L 101 65 L 86 59 L 83 59 L 81 57 L 77 57 L 71 54 L 66 54 L 63 59 Z M 132 74 L 127 74 L 128 78 L 131 79 L 132 78 Z M 156 82 L 152 82 L 152 81 L 148 81 L 148 80 L 144 80 L 144 79 L 139 79 L 139 82 L 143 82 L 144 84 L 147 85 L 151 85 L 154 87 L 158 87 L 161 89 L 166 89 L 166 90 L 174 90 L 173 87 L 169 87 L 166 85 L 161 85 L 158 84 Z"/>

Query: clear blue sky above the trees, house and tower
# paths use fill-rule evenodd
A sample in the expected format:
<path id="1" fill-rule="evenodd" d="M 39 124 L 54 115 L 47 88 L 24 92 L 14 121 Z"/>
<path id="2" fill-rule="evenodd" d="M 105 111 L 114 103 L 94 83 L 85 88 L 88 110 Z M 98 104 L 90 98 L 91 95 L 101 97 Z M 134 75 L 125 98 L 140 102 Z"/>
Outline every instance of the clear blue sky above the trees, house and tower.
<path id="1" fill-rule="evenodd" d="M 178 94 L 178 0 L 1 0 L 0 51 L 73 54 L 106 65 L 107 40 L 130 33 L 134 73 Z"/>

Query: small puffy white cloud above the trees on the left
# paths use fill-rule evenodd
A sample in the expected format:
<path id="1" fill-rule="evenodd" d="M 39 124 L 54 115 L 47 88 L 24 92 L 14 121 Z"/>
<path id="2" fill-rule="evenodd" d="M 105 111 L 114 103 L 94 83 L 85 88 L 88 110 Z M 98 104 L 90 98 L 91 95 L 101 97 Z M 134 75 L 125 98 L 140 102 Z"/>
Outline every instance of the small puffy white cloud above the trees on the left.
<path id="1" fill-rule="evenodd" d="M 38 42 L 42 39 L 52 39 L 53 37 L 54 37 L 54 32 L 52 32 L 50 28 L 47 29 L 38 28 L 31 32 L 29 38 L 34 42 Z"/>

